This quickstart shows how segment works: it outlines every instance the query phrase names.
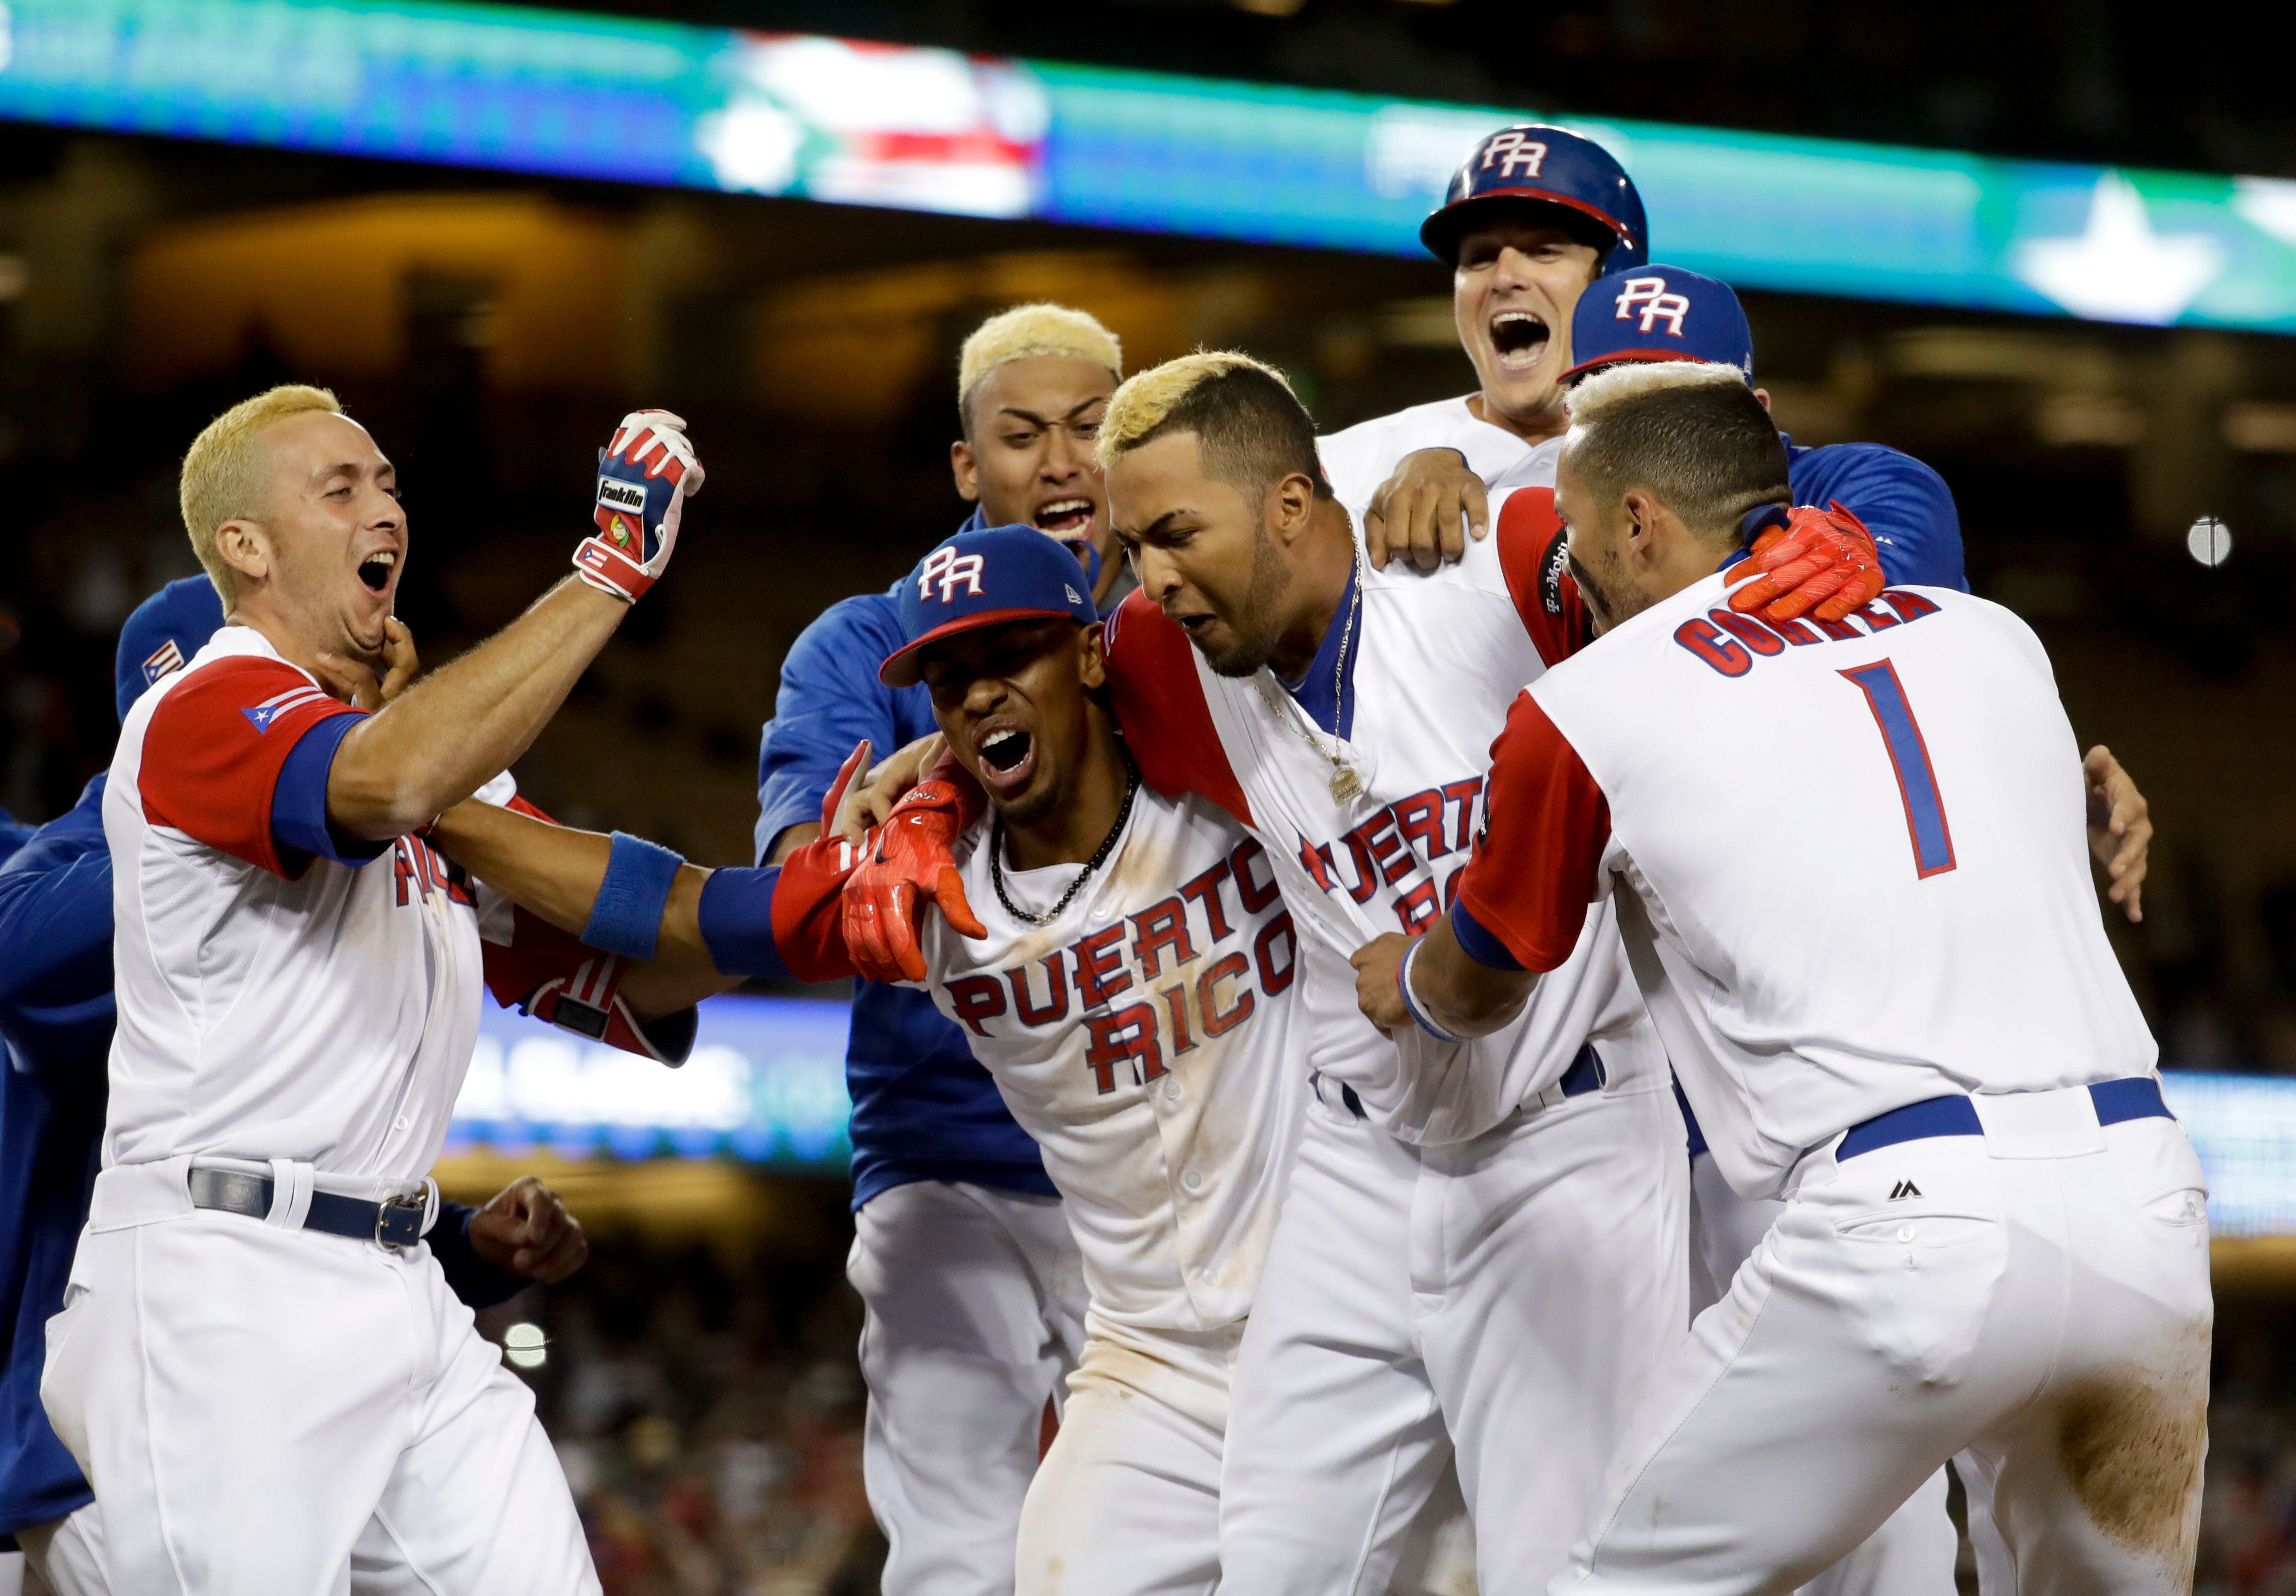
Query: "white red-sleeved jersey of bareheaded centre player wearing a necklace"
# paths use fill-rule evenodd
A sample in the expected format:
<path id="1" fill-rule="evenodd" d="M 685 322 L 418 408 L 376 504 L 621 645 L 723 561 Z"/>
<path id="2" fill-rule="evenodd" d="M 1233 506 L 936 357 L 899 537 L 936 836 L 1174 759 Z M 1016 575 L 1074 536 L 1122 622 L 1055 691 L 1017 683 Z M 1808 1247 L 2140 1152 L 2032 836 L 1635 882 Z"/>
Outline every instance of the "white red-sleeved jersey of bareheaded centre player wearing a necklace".
<path id="1" fill-rule="evenodd" d="M 1458 565 L 1359 563 L 1295 698 L 1270 671 L 1224 677 L 1178 625 L 1134 595 L 1109 622 L 1109 675 L 1148 778 L 1196 792 L 1251 827 L 1300 912 L 1309 1059 L 1410 1141 L 1458 1141 L 1554 1086 L 1580 1049 L 1616 1038 L 1614 1068 L 1662 1068 L 1609 909 L 1582 914 L 1570 967 L 1504 1031 L 1405 1063 L 1355 1001 L 1348 955 L 1417 932 L 1451 900 L 1474 838 L 1490 739 L 1522 682 L 1566 652 L 1543 570 L 1559 537 L 1548 489 L 1495 501 L 1495 530 Z M 1548 583 L 1550 586 L 1550 583 Z M 1334 703 L 1334 673 L 1345 659 Z M 1334 735 L 1334 723 L 1339 735 Z M 1364 785 L 1334 797 L 1334 767 Z M 1646 1045 L 1626 1047 L 1628 1038 Z M 1598 1049 L 1600 1052 L 1600 1049 Z"/>

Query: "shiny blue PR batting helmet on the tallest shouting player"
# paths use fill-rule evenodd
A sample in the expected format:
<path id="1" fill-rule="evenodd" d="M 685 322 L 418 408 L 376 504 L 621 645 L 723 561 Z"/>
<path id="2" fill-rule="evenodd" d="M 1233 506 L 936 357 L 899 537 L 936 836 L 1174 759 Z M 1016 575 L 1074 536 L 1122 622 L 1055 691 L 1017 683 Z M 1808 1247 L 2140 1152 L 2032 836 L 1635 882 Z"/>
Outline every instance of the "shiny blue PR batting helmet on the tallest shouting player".
<path id="1" fill-rule="evenodd" d="M 1499 129 L 1460 161 L 1442 204 L 1419 223 L 1419 241 L 1458 264 L 1460 237 L 1497 202 L 1557 207 L 1557 220 L 1603 250 L 1603 271 L 1651 259 L 1635 179 L 1591 138 L 1541 122 Z"/>

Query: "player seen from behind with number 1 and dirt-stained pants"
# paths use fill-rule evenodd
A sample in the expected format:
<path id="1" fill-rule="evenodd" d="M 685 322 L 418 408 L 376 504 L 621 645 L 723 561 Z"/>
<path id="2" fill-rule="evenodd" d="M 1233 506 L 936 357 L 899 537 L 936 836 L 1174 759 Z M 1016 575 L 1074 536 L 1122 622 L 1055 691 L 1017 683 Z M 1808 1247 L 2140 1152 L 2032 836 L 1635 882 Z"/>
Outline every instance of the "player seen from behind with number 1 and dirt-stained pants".
<path id="1" fill-rule="evenodd" d="M 1715 1160 L 1786 1208 L 1552 1589 L 1782 1591 L 1952 1456 L 1988 1589 L 2188 1589 L 2206 1194 L 2099 923 L 2046 652 L 1952 588 L 1736 609 L 1715 565 L 1789 487 L 1731 367 L 1589 379 L 1557 498 L 1603 636 L 1518 700 L 1449 916 L 1364 948 L 1359 1001 L 1442 1059 L 1603 896 Z M 1750 751 L 1747 710 L 1835 756 Z M 1745 847 L 1789 811 L 1841 891 Z"/>

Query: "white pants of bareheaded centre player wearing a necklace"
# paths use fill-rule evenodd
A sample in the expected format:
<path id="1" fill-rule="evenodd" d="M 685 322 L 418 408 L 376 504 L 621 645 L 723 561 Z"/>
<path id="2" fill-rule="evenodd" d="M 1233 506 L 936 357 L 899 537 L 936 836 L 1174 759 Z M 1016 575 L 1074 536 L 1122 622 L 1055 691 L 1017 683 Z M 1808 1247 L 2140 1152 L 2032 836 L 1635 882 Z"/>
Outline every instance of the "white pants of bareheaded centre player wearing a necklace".
<path id="1" fill-rule="evenodd" d="M 1322 1102 L 1235 1378 L 1231 1596 L 1375 1596 L 1456 1449 L 1483 1596 L 1545 1587 L 1688 1320 L 1681 1114 L 1655 1088 L 1412 1150 Z"/>

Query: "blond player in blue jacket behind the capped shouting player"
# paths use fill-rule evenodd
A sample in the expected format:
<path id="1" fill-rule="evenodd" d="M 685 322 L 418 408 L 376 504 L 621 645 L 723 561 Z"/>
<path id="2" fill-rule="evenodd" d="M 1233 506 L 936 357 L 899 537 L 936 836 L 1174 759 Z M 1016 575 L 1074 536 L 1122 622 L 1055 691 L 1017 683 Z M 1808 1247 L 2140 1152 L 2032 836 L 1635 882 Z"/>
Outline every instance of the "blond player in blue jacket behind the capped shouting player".
<path id="1" fill-rule="evenodd" d="M 967 526 L 1035 526 L 1100 560 L 1107 496 L 1091 439 L 1123 351 L 1081 310 L 1019 305 L 983 321 L 957 361 L 951 446 Z M 1100 581 L 1123 576 L 1100 560 Z M 1114 590 L 1114 588 L 1107 588 Z M 877 664 L 902 643 L 900 583 L 829 606 L 790 645 L 758 756 L 758 863 L 817 834 L 822 795 L 854 744 L 932 733 L 923 687 Z M 1045 1403 L 1084 1343 L 1084 1275 L 1042 1157 L 964 1031 L 923 992 L 854 987 L 854 1247 L 863 1477 L 891 1552 L 886 1596 L 1003 1596 L 1013 1534 L 1042 1449 Z"/>

